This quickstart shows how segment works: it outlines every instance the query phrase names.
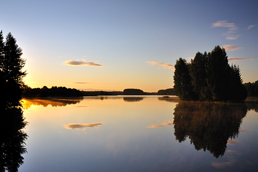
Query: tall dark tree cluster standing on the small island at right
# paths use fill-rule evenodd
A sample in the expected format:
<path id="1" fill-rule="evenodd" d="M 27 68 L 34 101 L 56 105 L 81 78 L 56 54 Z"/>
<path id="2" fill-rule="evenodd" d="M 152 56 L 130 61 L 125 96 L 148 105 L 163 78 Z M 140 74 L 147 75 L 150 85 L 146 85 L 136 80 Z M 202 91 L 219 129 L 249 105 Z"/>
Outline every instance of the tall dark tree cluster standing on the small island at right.
<path id="1" fill-rule="evenodd" d="M 196 53 L 189 63 L 182 58 L 176 60 L 176 95 L 191 101 L 244 101 L 247 89 L 239 66 L 229 65 L 227 58 L 225 49 L 216 46 L 208 53 Z"/>

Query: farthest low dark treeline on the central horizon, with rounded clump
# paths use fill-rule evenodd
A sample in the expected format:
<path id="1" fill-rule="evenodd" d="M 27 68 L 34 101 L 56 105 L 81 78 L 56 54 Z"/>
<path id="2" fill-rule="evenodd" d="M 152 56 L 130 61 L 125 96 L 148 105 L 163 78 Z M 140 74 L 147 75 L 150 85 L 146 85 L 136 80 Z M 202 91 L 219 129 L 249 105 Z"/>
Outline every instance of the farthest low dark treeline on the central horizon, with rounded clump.
<path id="1" fill-rule="evenodd" d="M 157 92 L 143 92 L 140 89 L 128 88 L 124 91 L 81 91 L 84 96 L 117 96 L 117 95 L 157 95 Z"/>

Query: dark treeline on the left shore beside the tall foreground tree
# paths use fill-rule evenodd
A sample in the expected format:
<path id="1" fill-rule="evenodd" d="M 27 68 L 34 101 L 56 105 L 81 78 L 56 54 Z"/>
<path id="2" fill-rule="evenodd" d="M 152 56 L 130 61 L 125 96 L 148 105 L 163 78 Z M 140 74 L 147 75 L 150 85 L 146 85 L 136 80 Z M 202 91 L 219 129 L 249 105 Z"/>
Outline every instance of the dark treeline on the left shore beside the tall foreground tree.
<path id="1" fill-rule="evenodd" d="M 23 97 L 79 97 L 83 96 L 80 90 L 75 88 L 57 87 L 52 86 L 48 88 L 46 86 L 42 88 L 24 88 Z"/>

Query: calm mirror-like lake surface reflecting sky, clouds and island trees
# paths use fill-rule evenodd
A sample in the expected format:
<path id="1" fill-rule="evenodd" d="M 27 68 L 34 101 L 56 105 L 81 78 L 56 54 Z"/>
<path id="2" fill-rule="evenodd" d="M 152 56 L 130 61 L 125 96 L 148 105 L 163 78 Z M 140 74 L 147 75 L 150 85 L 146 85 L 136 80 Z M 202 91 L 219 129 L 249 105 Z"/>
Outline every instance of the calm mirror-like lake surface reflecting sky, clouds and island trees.
<path id="1" fill-rule="evenodd" d="M 258 103 L 23 99 L 19 171 L 257 171 Z"/>

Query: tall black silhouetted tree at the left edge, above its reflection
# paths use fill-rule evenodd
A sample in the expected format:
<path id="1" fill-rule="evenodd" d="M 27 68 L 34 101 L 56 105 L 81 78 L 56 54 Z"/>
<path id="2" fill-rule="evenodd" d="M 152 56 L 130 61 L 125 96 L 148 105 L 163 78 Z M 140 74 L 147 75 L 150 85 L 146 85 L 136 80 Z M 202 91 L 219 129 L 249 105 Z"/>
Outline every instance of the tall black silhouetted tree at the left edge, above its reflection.
<path id="1" fill-rule="evenodd" d="M 9 32 L 5 41 L 3 32 L 0 32 L 0 87 L 5 91 L 7 103 L 17 103 L 21 100 L 23 78 L 26 71 L 21 71 L 25 59 L 21 58 L 22 50 L 16 44 L 16 39 Z M 14 106 L 17 106 L 14 104 Z"/>

